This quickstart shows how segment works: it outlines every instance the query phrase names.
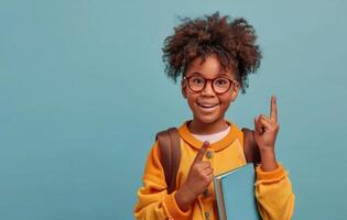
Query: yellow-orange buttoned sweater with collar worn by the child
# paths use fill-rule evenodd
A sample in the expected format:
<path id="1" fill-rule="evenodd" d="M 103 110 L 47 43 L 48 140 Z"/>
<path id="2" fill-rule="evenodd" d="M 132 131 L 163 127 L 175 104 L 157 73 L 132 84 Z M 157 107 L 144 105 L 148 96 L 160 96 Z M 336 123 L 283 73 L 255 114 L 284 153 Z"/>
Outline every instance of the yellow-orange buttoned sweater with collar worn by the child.
<path id="1" fill-rule="evenodd" d="M 227 121 L 228 122 L 228 121 Z M 212 143 L 208 151 L 209 161 L 214 174 L 237 168 L 245 165 L 243 133 L 234 123 L 228 122 L 231 129 L 224 139 Z M 177 172 L 176 189 L 178 189 L 191 168 L 196 153 L 203 142 L 196 140 L 187 129 L 187 122 L 178 128 L 181 136 L 181 164 Z M 258 165 L 256 168 L 257 180 L 254 193 L 258 210 L 263 220 L 286 220 L 291 219 L 294 210 L 294 194 L 292 185 L 281 164 L 273 172 L 263 172 Z M 138 190 L 138 204 L 134 207 L 134 217 L 141 220 L 217 220 L 217 202 L 213 183 L 206 194 L 202 194 L 191 205 L 189 209 L 183 212 L 176 201 L 174 190 L 167 195 L 163 167 L 160 163 L 158 142 L 153 145 L 147 161 L 143 186 Z"/>

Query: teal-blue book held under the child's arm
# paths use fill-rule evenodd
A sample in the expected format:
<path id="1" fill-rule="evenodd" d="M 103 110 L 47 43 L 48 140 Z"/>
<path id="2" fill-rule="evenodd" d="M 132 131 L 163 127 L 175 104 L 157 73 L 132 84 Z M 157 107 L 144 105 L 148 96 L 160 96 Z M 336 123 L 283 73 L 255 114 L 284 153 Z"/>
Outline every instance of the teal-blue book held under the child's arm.
<path id="1" fill-rule="evenodd" d="M 214 177 L 220 220 L 260 220 L 254 196 L 254 167 L 247 164 Z"/>

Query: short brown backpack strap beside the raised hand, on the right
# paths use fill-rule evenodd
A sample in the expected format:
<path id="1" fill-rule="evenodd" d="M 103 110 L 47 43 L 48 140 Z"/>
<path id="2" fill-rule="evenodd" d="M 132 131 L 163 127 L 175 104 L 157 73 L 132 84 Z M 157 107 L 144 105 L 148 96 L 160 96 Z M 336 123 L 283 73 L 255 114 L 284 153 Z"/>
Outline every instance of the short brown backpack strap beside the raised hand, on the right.
<path id="1" fill-rule="evenodd" d="M 254 131 L 247 128 L 242 129 L 243 132 L 243 152 L 247 163 L 260 163 L 260 152 L 254 140 Z"/>

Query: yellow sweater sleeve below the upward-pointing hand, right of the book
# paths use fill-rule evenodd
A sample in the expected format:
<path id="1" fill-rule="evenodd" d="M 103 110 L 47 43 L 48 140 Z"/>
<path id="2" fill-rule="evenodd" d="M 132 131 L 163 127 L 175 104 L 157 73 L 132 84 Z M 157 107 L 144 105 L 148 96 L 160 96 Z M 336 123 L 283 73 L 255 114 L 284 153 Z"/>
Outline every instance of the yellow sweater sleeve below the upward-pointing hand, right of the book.
<path id="1" fill-rule="evenodd" d="M 263 220 L 291 219 L 295 196 L 288 172 L 282 164 L 272 172 L 263 172 L 258 165 L 256 174 L 256 198 L 261 218 Z"/>

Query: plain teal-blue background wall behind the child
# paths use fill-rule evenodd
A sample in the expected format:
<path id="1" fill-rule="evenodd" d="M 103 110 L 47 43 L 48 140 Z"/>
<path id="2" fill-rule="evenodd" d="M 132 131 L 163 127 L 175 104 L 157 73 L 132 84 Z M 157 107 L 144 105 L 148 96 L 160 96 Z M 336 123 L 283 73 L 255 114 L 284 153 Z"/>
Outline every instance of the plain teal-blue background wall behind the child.
<path id="1" fill-rule="evenodd" d="M 252 128 L 276 95 L 293 219 L 345 219 L 343 0 L 1 0 L 0 219 L 132 219 L 155 133 L 191 118 L 163 40 L 177 15 L 217 10 L 253 24 L 263 51 L 227 118 Z"/>

